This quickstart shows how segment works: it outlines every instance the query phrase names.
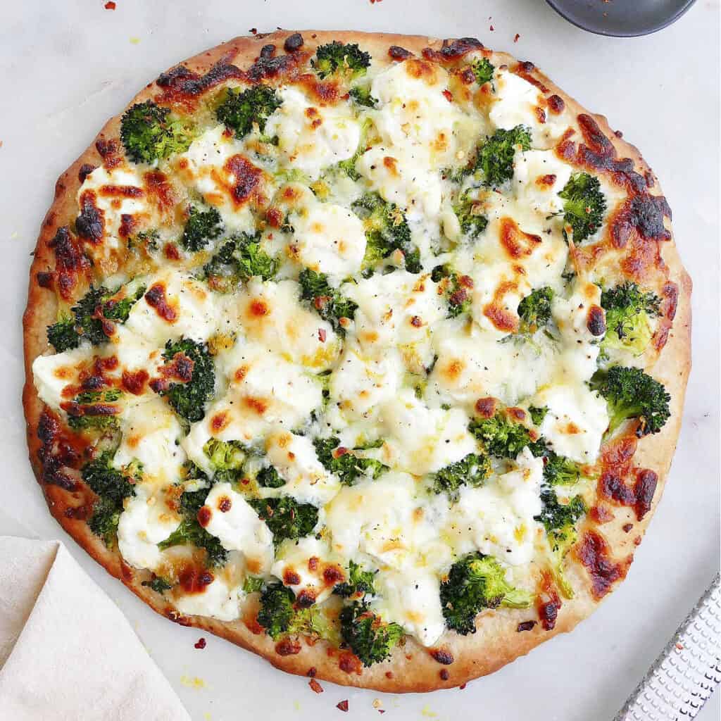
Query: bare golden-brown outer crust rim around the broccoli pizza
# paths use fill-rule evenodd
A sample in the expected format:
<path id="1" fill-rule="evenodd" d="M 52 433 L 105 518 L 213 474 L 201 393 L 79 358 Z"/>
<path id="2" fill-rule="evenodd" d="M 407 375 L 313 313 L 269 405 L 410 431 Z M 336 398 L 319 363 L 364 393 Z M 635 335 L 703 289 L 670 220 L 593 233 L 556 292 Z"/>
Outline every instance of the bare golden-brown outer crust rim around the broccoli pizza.
<path id="1" fill-rule="evenodd" d="M 204 74 L 221 59 L 240 68 L 246 68 L 255 61 L 263 45 L 274 43 L 280 49 L 283 47 L 283 41 L 290 34 L 290 31 L 278 31 L 268 35 L 236 37 L 234 40 L 218 45 L 217 48 L 190 58 L 182 64 L 199 74 Z M 302 32 L 302 35 L 306 42 L 304 49 L 313 48 L 315 45 L 332 40 L 341 40 L 348 43 L 360 43 L 364 49 L 371 52 L 374 58 L 388 58 L 387 52 L 390 45 L 400 45 L 402 48 L 420 55 L 423 48 L 440 50 L 442 43 L 441 40 L 433 40 L 428 37 L 386 33 L 364 34 L 361 32 L 306 30 Z M 388 61 L 390 62 L 390 58 Z M 494 53 L 492 62 L 496 65 L 503 63 L 510 65 L 516 61 L 505 53 Z M 559 95 L 565 101 L 570 114 L 575 116 L 580 112 L 585 112 L 583 107 L 538 70 L 533 69 L 529 74 L 548 88 L 547 96 L 549 94 Z M 150 99 L 157 92 L 156 85 L 150 84 L 138 93 L 129 105 Z M 58 227 L 68 224 L 76 215 L 76 193 L 80 185 L 79 169 L 83 164 L 102 164 L 102 157 L 97 151 L 95 143 L 105 138 L 118 137 L 120 115 L 106 123 L 92 146 L 58 179 L 55 200 L 45 216 L 37 240 L 35 259 L 30 270 L 27 309 L 23 318 L 26 373 L 23 406 L 27 420 L 30 461 L 45 493 L 50 512 L 68 534 L 73 536 L 81 547 L 108 572 L 120 579 L 151 608 L 169 619 L 224 637 L 262 655 L 283 671 L 300 675 L 314 675 L 316 678 L 334 681 L 337 684 L 361 686 L 391 693 L 430 691 L 459 686 L 472 678 L 496 671 L 506 663 L 525 655 L 541 642 L 549 640 L 555 634 L 569 632 L 580 620 L 588 616 L 600 601 L 593 597 L 588 575 L 584 576 L 583 567 L 575 562 L 569 564 L 568 573 L 574 575 L 576 579 L 584 580 L 584 583 L 580 585 L 583 590 L 578 592 L 572 600 L 563 602 L 555 627 L 550 631 L 544 630 L 541 624 L 536 624 L 528 631 L 519 632 L 517 630 L 519 622 L 536 618 L 534 609 L 526 611 L 499 609 L 485 611 L 482 614 L 475 634 L 459 636 L 452 632 L 446 632 L 435 649 L 425 649 L 415 640 L 407 637 L 404 647 L 397 647 L 392 658 L 385 663 L 373 665 L 371 668 L 361 669 L 352 654 L 342 650 L 333 650 L 325 642 L 309 645 L 307 642 L 301 641 L 298 653 L 281 655 L 276 652 L 276 645 L 270 637 L 267 637 L 262 631 L 252 632 L 242 619 L 238 619 L 236 622 L 219 622 L 203 616 L 181 616 L 161 594 L 141 585 L 142 580 L 148 578 L 146 572 L 139 572 L 126 565 L 117 551 L 107 549 L 102 541 L 92 534 L 83 520 L 74 518 L 72 513 L 68 512 L 68 508 L 72 509 L 82 502 L 82 493 L 68 492 L 57 485 L 43 482 L 43 468 L 37 455 L 40 448 L 37 428 L 43 412 L 43 403 L 38 399 L 32 382 L 32 361 L 37 355 L 48 350 L 45 329 L 48 324 L 55 321 L 57 307 L 54 294 L 45 291 L 38 285 L 36 275 L 38 272 L 53 267 L 53 257 L 48 248 L 48 241 L 56 234 Z M 606 118 L 602 115 L 594 115 L 594 118 L 603 134 L 614 144 L 619 157 L 632 159 L 635 169 L 641 174 L 650 172 L 650 168 L 642 159 L 640 152 L 622 138 L 617 137 L 611 131 Z M 661 195 L 658 182 L 655 182 L 651 192 L 654 195 Z M 635 520 L 632 509 L 614 507 L 615 518 L 613 521 L 596 528 L 596 532 L 603 534 L 608 541 L 614 559 L 622 561 L 624 564 L 630 563 L 634 549 L 645 533 L 653 511 L 660 501 L 676 448 L 686 381 L 691 368 L 691 280 L 681 265 L 673 240 L 663 244 L 663 259 L 668 266 L 671 280 L 678 284 L 678 309 L 668 342 L 654 366 L 654 376 L 662 381 L 668 392 L 671 393 L 671 419 L 660 433 L 642 439 L 637 454 L 634 456 L 638 466 L 653 469 L 658 473 L 658 487 L 653 497 L 651 511 L 642 521 Z M 624 531 L 624 526 L 627 526 L 628 523 L 632 523 L 632 530 Z M 575 587 L 578 588 L 578 585 L 578 582 L 575 583 Z M 249 623 L 251 628 L 253 625 Z M 260 631 L 260 629 L 256 630 Z M 438 650 L 443 653 L 433 653 Z M 452 659 L 452 663 L 443 663 L 450 659 Z"/>

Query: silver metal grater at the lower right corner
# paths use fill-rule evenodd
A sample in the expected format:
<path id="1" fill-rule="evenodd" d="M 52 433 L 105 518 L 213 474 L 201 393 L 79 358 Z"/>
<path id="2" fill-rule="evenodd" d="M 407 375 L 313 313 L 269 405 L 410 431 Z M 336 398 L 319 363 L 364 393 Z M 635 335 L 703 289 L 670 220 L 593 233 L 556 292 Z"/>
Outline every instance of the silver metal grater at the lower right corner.
<path id="1" fill-rule="evenodd" d="M 693 719 L 721 683 L 719 575 L 678 627 L 614 721 Z"/>

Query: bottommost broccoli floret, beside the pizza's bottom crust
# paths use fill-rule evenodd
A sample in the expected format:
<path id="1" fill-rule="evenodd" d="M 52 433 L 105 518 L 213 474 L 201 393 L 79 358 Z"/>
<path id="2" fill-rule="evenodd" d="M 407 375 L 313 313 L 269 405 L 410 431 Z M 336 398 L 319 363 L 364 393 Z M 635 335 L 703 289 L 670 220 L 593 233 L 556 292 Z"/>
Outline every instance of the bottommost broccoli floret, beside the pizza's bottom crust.
<path id="1" fill-rule="evenodd" d="M 366 603 L 353 601 L 340 612 L 340 635 L 363 665 L 371 666 L 391 655 L 404 631 L 399 624 L 384 623 Z"/>

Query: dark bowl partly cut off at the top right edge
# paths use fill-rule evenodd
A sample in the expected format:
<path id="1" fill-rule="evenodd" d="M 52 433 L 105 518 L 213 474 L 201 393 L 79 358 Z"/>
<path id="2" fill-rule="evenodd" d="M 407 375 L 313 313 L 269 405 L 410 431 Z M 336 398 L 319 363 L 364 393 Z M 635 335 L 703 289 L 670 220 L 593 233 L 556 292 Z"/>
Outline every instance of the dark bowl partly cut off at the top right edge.
<path id="1" fill-rule="evenodd" d="M 696 0 L 547 0 L 573 25 L 597 35 L 636 37 L 676 22 Z"/>

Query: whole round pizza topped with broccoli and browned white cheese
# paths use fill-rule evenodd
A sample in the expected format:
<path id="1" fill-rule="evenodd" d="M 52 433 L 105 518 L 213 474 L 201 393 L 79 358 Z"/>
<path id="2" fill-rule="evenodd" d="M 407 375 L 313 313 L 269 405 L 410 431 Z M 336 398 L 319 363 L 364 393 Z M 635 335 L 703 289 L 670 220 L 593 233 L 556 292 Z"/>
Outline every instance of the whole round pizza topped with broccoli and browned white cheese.
<path id="1" fill-rule="evenodd" d="M 58 180 L 25 313 L 32 466 L 168 619 L 291 673 L 458 686 L 627 574 L 690 295 L 655 174 L 533 63 L 238 37 Z"/>

